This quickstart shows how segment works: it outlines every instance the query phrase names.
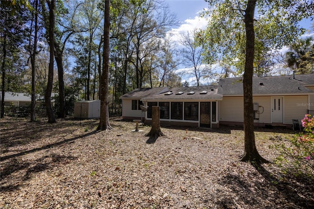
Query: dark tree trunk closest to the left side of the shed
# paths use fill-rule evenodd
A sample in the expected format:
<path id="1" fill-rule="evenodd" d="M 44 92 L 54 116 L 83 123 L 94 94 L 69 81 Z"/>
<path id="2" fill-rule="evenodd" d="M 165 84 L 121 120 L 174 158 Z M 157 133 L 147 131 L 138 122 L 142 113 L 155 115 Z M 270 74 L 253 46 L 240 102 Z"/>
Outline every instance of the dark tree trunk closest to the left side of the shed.
<path id="1" fill-rule="evenodd" d="M 63 77 L 63 52 L 60 48 L 60 44 L 54 41 L 55 49 L 55 62 L 58 68 L 58 85 L 59 85 L 59 112 L 58 118 L 65 118 L 65 91 L 64 91 L 64 77 Z"/>

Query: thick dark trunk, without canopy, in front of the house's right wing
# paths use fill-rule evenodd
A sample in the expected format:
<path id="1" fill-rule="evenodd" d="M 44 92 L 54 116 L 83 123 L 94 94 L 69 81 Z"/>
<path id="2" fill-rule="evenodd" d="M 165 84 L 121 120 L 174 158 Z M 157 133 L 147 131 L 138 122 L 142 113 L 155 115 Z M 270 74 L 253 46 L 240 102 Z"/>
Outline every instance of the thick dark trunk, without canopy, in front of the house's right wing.
<path id="1" fill-rule="evenodd" d="M 267 162 L 256 149 L 254 135 L 253 114 L 253 62 L 254 62 L 254 11 L 256 0 L 248 0 L 244 15 L 246 31 L 246 55 L 243 75 L 243 100 L 244 100 L 244 155 L 241 161 Z"/>

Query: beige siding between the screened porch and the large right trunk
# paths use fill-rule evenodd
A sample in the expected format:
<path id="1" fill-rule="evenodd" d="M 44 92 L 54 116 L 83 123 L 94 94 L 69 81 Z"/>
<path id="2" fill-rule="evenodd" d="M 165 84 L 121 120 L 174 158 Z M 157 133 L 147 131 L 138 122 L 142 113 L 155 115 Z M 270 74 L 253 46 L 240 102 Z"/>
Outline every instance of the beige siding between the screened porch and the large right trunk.
<path id="1" fill-rule="evenodd" d="M 243 97 L 223 97 L 219 101 L 219 120 L 243 122 Z"/>

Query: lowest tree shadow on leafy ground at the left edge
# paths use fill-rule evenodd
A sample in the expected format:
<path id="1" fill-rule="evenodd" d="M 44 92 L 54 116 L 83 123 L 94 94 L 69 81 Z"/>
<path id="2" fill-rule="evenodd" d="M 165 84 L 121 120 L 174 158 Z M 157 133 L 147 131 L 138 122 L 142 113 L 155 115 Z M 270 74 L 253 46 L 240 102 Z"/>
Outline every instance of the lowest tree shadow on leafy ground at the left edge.
<path id="1" fill-rule="evenodd" d="M 78 157 L 56 154 L 46 155 L 34 161 L 25 162 L 20 162 L 17 158 L 12 158 L 1 168 L 0 190 L 2 192 L 16 191 L 36 173 L 52 169 L 60 164 L 68 164 L 77 159 Z M 10 175 L 13 173 L 15 174 L 12 178 Z"/>

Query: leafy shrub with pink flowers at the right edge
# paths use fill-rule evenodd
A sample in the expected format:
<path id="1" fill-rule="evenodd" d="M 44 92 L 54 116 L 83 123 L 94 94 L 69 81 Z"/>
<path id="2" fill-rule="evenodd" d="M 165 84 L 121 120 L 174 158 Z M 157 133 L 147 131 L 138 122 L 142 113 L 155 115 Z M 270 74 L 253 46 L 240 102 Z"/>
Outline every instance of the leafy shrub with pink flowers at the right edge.
<path id="1" fill-rule="evenodd" d="M 275 163 L 294 175 L 307 175 L 314 179 L 314 117 L 305 115 L 302 120 L 304 132 L 291 137 L 288 144 L 276 144 L 280 152 Z"/>

